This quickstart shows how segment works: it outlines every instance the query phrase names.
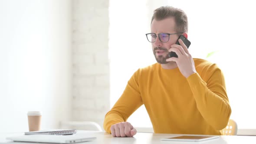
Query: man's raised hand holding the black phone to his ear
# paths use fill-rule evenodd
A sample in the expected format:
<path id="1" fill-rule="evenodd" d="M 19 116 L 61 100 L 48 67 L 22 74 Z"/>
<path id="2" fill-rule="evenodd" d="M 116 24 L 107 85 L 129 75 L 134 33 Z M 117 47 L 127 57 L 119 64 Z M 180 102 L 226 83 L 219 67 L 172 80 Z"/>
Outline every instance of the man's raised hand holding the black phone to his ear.
<path id="1" fill-rule="evenodd" d="M 178 39 L 178 42 L 181 45 L 173 44 L 171 45 L 171 49 L 169 49 L 169 52 L 175 52 L 177 57 L 171 57 L 166 59 L 166 61 L 176 62 L 182 75 L 188 78 L 190 75 L 197 72 L 194 60 L 188 52 L 187 46 L 184 44 L 184 42 L 181 39 Z"/>

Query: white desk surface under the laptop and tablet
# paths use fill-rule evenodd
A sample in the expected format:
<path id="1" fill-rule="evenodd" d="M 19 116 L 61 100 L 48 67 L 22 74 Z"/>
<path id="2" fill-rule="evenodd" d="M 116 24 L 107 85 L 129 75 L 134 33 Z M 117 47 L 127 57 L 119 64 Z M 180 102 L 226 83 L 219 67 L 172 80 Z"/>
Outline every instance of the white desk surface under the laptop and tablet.
<path id="1" fill-rule="evenodd" d="M 213 139 L 202 142 L 174 142 L 161 141 L 160 138 L 173 137 L 181 134 L 154 134 L 137 133 L 134 137 L 112 137 L 106 132 L 97 131 L 78 131 L 78 134 L 92 134 L 97 139 L 77 144 L 256 144 L 256 136 L 220 136 L 219 139 Z M 5 138 L 9 136 L 21 135 L 23 133 L 0 133 L 0 144 L 39 144 L 10 142 Z"/>

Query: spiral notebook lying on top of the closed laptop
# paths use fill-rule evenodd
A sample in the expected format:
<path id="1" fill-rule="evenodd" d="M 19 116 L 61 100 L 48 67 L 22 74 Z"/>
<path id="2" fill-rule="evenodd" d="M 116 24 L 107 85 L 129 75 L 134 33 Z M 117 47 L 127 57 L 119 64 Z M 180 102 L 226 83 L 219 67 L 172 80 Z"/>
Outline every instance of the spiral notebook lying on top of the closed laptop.
<path id="1" fill-rule="evenodd" d="M 44 135 L 71 135 L 75 134 L 75 129 L 70 130 L 42 130 L 42 131 L 29 131 L 25 132 L 25 135 L 33 135 L 33 134 L 44 134 Z"/>

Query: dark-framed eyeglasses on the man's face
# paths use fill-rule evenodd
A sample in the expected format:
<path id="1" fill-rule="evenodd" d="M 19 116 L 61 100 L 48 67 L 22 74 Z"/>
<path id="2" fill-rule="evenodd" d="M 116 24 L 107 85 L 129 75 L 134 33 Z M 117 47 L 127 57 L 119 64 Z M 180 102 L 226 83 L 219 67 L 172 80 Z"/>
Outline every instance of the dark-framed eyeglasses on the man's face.
<path id="1" fill-rule="evenodd" d="M 146 36 L 150 43 L 154 43 L 157 39 L 157 36 L 161 42 L 167 43 L 170 39 L 170 35 L 176 35 L 176 34 L 182 34 L 182 33 L 147 33 Z"/>

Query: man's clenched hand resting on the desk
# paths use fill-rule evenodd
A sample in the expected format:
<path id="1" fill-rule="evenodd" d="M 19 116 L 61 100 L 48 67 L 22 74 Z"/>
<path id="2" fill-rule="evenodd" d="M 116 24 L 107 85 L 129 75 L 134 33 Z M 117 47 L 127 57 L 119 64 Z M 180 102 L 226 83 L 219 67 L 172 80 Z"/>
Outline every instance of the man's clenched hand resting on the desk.
<path id="1" fill-rule="evenodd" d="M 113 137 L 132 137 L 137 133 L 129 122 L 113 124 L 110 130 Z"/>

